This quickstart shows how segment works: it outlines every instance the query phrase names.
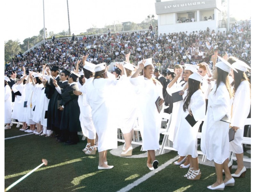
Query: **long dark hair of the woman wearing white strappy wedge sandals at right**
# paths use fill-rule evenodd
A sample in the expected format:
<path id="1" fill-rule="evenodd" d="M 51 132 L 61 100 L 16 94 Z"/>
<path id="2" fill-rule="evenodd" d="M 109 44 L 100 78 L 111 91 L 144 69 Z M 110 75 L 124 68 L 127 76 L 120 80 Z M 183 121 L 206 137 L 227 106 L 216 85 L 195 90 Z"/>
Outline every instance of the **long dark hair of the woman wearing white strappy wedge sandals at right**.
<path id="1" fill-rule="evenodd" d="M 194 79 L 189 79 L 188 78 L 188 94 L 187 96 L 184 98 L 184 104 L 183 104 L 183 111 L 185 112 L 186 109 L 188 109 L 189 103 L 190 103 L 190 99 L 192 97 L 192 95 L 198 90 L 201 89 L 201 83 L 200 81 L 196 81 Z"/>

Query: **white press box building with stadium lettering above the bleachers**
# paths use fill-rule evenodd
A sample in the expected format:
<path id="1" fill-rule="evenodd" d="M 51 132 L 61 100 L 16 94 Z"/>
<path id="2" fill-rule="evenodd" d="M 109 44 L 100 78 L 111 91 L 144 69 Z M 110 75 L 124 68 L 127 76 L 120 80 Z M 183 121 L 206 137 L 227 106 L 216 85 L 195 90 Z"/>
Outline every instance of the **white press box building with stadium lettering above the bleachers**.
<path id="1" fill-rule="evenodd" d="M 156 0 L 158 35 L 180 31 L 206 30 L 209 27 L 221 32 L 227 31 L 227 22 L 222 19 L 223 0 Z M 211 16 L 211 17 L 210 17 Z M 194 22 L 186 22 L 194 18 Z"/>

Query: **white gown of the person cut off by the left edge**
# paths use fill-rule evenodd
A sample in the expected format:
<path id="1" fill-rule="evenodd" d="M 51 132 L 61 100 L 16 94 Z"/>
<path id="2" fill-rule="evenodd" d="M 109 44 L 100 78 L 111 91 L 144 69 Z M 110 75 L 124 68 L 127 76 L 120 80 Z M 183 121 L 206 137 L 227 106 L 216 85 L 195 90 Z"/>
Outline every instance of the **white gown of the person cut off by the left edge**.
<path id="1" fill-rule="evenodd" d="M 4 123 L 12 122 L 12 92 L 10 86 L 4 86 Z"/>

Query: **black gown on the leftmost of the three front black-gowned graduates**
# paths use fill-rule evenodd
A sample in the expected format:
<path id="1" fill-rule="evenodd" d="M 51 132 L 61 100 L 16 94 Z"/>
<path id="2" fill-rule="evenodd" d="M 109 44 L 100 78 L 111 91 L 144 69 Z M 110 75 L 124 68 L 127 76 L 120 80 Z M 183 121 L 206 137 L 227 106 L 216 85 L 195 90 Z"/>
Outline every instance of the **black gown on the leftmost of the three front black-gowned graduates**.
<path id="1" fill-rule="evenodd" d="M 57 77 L 56 81 L 59 86 L 62 84 L 60 77 Z M 58 91 L 55 89 L 52 78 L 49 84 L 48 82 L 46 83 L 46 88 L 44 93 L 45 94 L 48 93 L 48 96 L 52 95 L 49 100 L 48 110 L 47 110 L 47 130 L 56 131 L 55 127 L 60 128 L 60 121 L 61 121 L 61 114 L 60 114 L 60 110 L 58 109 L 59 108 L 58 102 L 60 103 L 60 93 L 58 93 Z"/>

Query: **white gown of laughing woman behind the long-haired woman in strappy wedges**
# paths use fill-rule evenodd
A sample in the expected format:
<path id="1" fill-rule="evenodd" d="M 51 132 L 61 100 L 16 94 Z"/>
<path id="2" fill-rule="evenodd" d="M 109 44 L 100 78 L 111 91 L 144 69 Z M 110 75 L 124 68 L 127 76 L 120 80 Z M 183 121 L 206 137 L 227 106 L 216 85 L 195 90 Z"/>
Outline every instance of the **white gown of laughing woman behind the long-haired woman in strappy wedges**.
<path id="1" fill-rule="evenodd" d="M 186 85 L 185 81 L 181 81 L 180 83 L 176 82 L 172 85 L 171 88 L 169 88 L 168 85 L 167 85 L 166 92 L 169 95 L 172 95 L 172 93 L 183 90 L 183 87 L 185 85 Z M 182 95 L 183 99 L 185 98 L 186 95 L 187 95 L 187 90 Z M 173 103 L 172 120 L 171 120 L 171 123 L 170 123 L 169 136 L 168 136 L 168 139 L 171 140 L 172 142 L 175 141 L 176 133 L 177 133 L 178 128 L 180 126 L 180 122 L 181 122 L 181 115 L 180 114 L 183 111 L 183 103 L 184 103 L 183 100 Z"/>

